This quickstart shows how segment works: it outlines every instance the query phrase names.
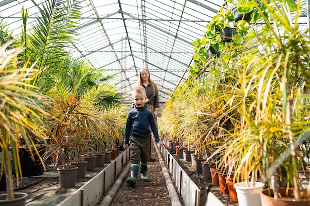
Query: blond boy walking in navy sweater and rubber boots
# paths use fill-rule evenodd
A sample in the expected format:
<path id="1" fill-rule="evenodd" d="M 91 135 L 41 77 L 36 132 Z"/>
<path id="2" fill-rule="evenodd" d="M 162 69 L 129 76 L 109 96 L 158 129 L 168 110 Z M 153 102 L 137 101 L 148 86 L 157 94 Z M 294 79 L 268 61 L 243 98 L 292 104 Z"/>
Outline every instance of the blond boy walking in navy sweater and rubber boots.
<path id="1" fill-rule="evenodd" d="M 146 91 L 143 86 L 136 86 L 132 91 L 132 101 L 135 106 L 127 116 L 126 128 L 125 128 L 125 140 L 124 148 L 131 149 L 130 155 L 130 177 L 127 179 L 127 183 L 133 187 L 136 185 L 137 175 L 140 167 L 140 175 L 143 182 L 149 182 L 150 179 L 147 176 L 147 168 L 149 161 L 150 151 L 150 129 L 155 136 L 155 142 L 162 145 L 159 139 L 157 127 L 153 114 L 146 108 L 145 101 L 147 100 Z M 140 164 L 140 165 L 139 165 Z"/>

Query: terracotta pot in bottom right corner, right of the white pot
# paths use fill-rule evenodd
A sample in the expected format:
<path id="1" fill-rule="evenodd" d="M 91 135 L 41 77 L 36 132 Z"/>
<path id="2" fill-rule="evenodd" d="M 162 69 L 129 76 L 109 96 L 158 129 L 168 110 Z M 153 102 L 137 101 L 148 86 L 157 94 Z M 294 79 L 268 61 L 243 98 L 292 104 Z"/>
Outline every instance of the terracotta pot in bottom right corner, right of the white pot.
<path id="1" fill-rule="evenodd" d="M 269 191 L 272 197 L 269 196 Z M 286 188 L 279 188 L 279 193 L 284 198 L 273 198 L 273 190 L 272 189 L 264 189 L 260 193 L 260 200 L 262 206 L 310 206 L 310 200 L 307 196 L 307 190 L 301 190 L 301 197 L 304 197 L 301 201 L 296 201 L 293 196 L 294 192 L 292 188 L 289 188 L 288 193 L 286 195 Z M 292 198 L 289 198 L 292 197 Z"/>

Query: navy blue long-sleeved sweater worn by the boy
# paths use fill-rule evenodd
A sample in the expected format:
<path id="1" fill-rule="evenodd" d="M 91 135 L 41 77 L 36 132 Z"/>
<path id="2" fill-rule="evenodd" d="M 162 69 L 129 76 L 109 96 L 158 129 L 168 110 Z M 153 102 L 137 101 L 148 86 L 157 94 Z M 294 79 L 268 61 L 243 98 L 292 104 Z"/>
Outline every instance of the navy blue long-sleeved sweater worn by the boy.
<path id="1" fill-rule="evenodd" d="M 135 106 L 127 116 L 124 144 L 129 144 L 129 136 L 137 139 L 150 138 L 149 125 L 155 136 L 155 142 L 160 141 L 152 112 L 147 109 L 146 105 L 141 108 Z"/>

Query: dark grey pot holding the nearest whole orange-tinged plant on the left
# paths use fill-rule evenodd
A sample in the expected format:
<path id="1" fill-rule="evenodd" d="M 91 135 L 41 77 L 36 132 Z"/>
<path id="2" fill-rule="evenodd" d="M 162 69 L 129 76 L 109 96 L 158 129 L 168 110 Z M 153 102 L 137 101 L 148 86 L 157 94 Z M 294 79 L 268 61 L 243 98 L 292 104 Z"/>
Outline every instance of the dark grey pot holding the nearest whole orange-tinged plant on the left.
<path id="1" fill-rule="evenodd" d="M 68 169 L 57 168 L 59 186 L 62 188 L 74 187 L 76 182 L 77 166 L 71 166 Z"/>

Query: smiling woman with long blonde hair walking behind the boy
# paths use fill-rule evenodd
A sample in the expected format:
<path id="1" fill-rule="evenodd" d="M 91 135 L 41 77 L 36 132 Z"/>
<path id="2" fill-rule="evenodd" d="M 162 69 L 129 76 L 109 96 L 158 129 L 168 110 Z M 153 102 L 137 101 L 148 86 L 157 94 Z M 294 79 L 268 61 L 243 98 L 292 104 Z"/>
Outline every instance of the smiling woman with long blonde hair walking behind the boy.
<path id="1" fill-rule="evenodd" d="M 148 100 L 146 102 L 147 109 L 149 109 L 153 113 L 153 117 L 155 120 L 155 124 L 158 129 L 157 124 L 157 110 L 159 108 L 159 89 L 158 86 L 151 80 L 150 71 L 147 68 L 142 68 L 138 75 L 138 83 L 137 85 L 143 86 L 146 90 L 146 96 Z M 152 138 L 152 130 L 150 128 L 150 138 Z M 152 141 L 151 141 L 152 144 Z M 155 159 L 151 156 L 151 144 L 150 144 L 150 153 L 149 157 L 151 162 L 154 162 Z"/>

